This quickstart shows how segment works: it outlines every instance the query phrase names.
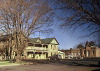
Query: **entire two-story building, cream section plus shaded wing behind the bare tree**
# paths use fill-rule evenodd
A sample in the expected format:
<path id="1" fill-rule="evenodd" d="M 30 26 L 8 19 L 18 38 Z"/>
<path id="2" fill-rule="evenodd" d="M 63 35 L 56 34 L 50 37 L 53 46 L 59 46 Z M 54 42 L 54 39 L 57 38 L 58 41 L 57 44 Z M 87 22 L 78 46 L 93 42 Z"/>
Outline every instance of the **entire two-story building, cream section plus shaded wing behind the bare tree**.
<path id="1" fill-rule="evenodd" d="M 0 59 L 1 60 L 16 58 L 17 48 L 15 45 L 16 41 L 14 39 L 15 35 L 9 34 L 9 35 L 0 36 Z M 23 47 L 22 51 L 20 50 L 21 49 L 20 47 L 18 49 L 22 52 L 22 58 L 48 59 L 49 57 L 58 54 L 59 43 L 56 40 L 56 38 L 45 38 L 45 39 L 26 38 L 24 34 L 21 34 L 20 38 L 23 38 L 23 42 L 25 40 L 25 47 Z M 2 52 L 3 49 L 4 52 Z"/>

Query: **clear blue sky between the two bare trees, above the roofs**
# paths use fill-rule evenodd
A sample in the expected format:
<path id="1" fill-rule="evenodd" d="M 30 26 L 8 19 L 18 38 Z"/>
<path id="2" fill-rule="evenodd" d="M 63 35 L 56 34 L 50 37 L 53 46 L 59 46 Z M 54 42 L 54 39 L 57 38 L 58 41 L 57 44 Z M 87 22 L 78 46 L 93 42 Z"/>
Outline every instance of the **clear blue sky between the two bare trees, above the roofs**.
<path id="1" fill-rule="evenodd" d="M 59 7 L 60 5 L 55 5 L 51 3 L 50 5 L 52 8 Z M 47 26 L 46 28 L 52 28 L 52 33 L 40 33 L 41 38 L 52 38 L 55 37 L 59 42 L 59 48 L 60 49 L 69 49 L 74 48 L 80 43 L 84 43 L 86 41 L 96 41 L 98 38 L 96 36 L 86 36 L 94 29 L 88 29 L 86 28 L 88 24 L 83 26 L 75 26 L 75 29 L 71 28 L 70 26 L 66 26 L 64 28 L 60 27 L 60 24 L 64 23 L 64 20 L 61 20 L 61 18 L 66 18 L 71 16 L 74 12 L 68 9 L 60 9 L 60 10 L 54 10 L 54 15 L 52 17 L 53 21 L 52 26 Z M 92 28 L 95 26 L 93 25 Z M 39 37 L 39 33 L 36 33 L 32 37 Z"/>

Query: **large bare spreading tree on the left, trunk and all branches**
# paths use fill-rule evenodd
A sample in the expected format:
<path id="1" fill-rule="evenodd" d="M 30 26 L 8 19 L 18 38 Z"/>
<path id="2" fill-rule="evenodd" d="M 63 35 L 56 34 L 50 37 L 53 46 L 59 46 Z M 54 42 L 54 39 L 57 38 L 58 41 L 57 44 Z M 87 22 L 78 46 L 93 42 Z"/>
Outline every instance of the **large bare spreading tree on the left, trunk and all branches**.
<path id="1" fill-rule="evenodd" d="M 27 41 L 21 37 L 21 34 L 28 38 L 34 31 L 41 28 L 40 21 L 49 11 L 50 7 L 46 1 L 0 0 L 0 31 L 10 34 L 8 43 L 12 45 L 9 48 L 15 46 L 17 61 Z"/>

